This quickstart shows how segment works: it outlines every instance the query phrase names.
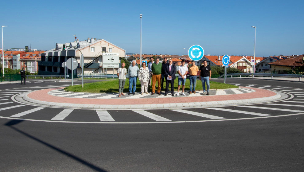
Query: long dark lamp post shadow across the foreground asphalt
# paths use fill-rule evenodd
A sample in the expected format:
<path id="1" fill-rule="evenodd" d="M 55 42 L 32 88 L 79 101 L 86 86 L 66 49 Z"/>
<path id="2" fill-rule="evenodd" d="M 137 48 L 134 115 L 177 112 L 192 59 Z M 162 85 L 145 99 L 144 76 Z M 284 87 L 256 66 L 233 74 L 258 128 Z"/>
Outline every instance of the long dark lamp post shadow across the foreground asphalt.
<path id="1" fill-rule="evenodd" d="M 25 133 L 25 132 L 19 130 L 18 128 L 14 127 L 14 125 L 16 125 L 16 124 L 18 124 L 18 123 L 21 123 L 21 122 L 23 122 L 23 120 L 13 119 L 13 120 L 7 122 L 5 125 L 8 126 L 8 127 L 10 127 L 10 128 L 12 128 L 12 129 L 14 129 L 15 131 L 18 131 L 18 132 L 21 133 L 21 134 L 23 134 L 23 135 L 25 135 L 25 136 L 27 136 L 27 137 L 33 139 L 33 140 L 39 142 L 39 143 L 44 144 L 45 146 L 48 146 L 48 147 L 50 147 L 50 148 L 52 148 L 52 149 L 54 149 L 54 150 L 56 150 L 56 151 L 58 151 L 58 152 L 60 152 L 60 153 L 62 153 L 62 154 L 67 155 L 67 156 L 70 157 L 70 158 L 73 158 L 74 160 L 80 162 L 81 164 L 83 164 L 83 165 L 85 165 L 85 166 L 90 167 L 90 168 L 93 169 L 93 170 L 102 171 L 102 172 L 107 172 L 106 170 L 103 170 L 103 169 L 99 168 L 98 166 L 95 166 L 95 165 L 93 165 L 93 164 L 91 164 L 91 163 L 89 163 L 89 162 L 86 162 L 86 161 L 84 161 L 84 160 L 81 159 L 81 158 L 78 158 L 78 157 L 76 157 L 76 156 L 74 156 L 74 155 L 72 155 L 72 154 L 70 154 L 70 153 L 68 153 L 68 152 L 66 152 L 66 151 L 64 151 L 64 150 L 61 150 L 61 149 L 59 149 L 59 148 L 57 148 L 57 147 L 55 147 L 55 146 L 53 146 L 53 145 L 51 145 L 51 144 L 49 144 L 49 143 L 46 143 L 46 142 L 44 142 L 44 141 L 42 141 L 42 140 L 40 140 L 40 139 L 38 139 L 38 138 L 36 138 L 36 137 L 34 137 L 34 136 L 32 136 L 32 135 L 29 135 L 29 134 L 27 134 L 27 133 Z"/>

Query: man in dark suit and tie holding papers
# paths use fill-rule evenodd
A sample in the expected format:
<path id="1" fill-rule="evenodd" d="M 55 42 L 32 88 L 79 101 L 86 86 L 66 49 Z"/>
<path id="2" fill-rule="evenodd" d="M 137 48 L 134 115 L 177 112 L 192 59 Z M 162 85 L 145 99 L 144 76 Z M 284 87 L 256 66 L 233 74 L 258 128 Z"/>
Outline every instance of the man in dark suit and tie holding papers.
<path id="1" fill-rule="evenodd" d="M 172 60 L 169 60 L 169 65 L 166 66 L 165 77 L 166 77 L 166 90 L 165 96 L 167 96 L 169 92 L 169 83 L 171 85 L 171 94 L 174 96 L 174 80 L 175 80 L 176 68 L 172 64 Z"/>

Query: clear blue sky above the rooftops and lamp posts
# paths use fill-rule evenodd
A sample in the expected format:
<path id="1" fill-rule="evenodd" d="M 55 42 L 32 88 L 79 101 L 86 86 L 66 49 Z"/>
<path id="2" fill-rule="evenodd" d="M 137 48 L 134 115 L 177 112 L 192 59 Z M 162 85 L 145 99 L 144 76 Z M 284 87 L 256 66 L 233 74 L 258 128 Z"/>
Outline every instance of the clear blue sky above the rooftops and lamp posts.
<path id="1" fill-rule="evenodd" d="M 4 49 L 48 50 L 56 43 L 105 39 L 126 53 L 256 57 L 304 54 L 304 1 L 4 1 Z"/>

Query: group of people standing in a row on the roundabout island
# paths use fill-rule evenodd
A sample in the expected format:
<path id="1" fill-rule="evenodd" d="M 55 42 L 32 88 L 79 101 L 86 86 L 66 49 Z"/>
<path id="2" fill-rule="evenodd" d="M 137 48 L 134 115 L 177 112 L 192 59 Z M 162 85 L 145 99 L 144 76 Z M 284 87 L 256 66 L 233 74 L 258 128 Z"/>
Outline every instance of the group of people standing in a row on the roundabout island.
<path id="1" fill-rule="evenodd" d="M 185 96 L 185 83 L 186 77 L 189 70 L 189 80 L 190 80 L 190 94 L 196 93 L 196 80 L 197 75 L 203 85 L 203 94 L 209 95 L 209 88 L 210 84 L 209 81 L 211 79 L 211 68 L 207 65 L 207 61 L 204 61 L 204 65 L 198 68 L 195 65 L 195 61 L 191 61 L 192 66 L 188 67 L 185 66 L 185 60 L 181 61 L 181 65 L 178 66 L 177 71 L 175 65 L 173 65 L 172 60 L 167 61 L 165 57 L 163 62 L 159 62 L 159 58 L 156 58 L 154 62 L 154 58 L 150 57 L 150 62 L 148 65 L 146 62 L 142 62 L 142 67 L 138 68 L 136 66 L 136 61 L 132 61 L 132 65 L 128 68 L 128 71 L 125 67 L 125 63 L 122 63 L 121 68 L 117 71 L 118 82 L 119 82 L 119 97 L 124 96 L 123 88 L 126 82 L 126 74 L 128 73 L 129 77 L 129 93 L 135 94 L 136 90 L 136 80 L 140 81 L 141 85 L 141 94 L 149 94 L 148 88 L 150 88 L 152 84 L 152 95 L 155 94 L 155 85 L 156 82 L 158 83 L 157 94 L 161 94 L 161 89 L 163 89 L 163 83 L 166 80 L 166 88 L 165 88 L 165 96 L 168 95 L 169 92 L 169 84 L 170 84 L 170 92 L 171 95 L 174 96 L 174 80 L 176 79 L 176 72 L 178 73 L 178 86 L 177 86 L 177 96 L 179 96 L 180 88 L 182 90 L 181 95 Z M 207 89 L 205 87 L 207 85 Z"/>

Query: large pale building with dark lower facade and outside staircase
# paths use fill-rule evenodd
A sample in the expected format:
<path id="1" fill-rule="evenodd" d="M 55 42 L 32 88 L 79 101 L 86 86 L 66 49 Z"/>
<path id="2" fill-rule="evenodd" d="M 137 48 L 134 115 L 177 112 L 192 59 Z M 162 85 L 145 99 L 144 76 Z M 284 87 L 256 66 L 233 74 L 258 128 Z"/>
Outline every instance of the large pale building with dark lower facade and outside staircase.
<path id="1" fill-rule="evenodd" d="M 66 50 L 63 49 L 64 44 Z M 80 64 L 81 53 L 84 55 L 85 74 L 116 74 L 118 68 L 103 68 L 103 53 L 119 53 L 120 58 L 126 56 L 126 50 L 104 39 L 88 38 L 84 41 L 77 39 L 73 42 L 57 43 L 54 49 L 42 53 L 41 62 L 38 63 L 38 73 L 44 75 L 63 75 L 64 68 L 61 67 L 62 63 L 72 57 Z M 78 65 L 76 72 L 79 74 L 81 71 Z M 68 70 L 68 73 L 71 73 L 71 70 Z"/>

